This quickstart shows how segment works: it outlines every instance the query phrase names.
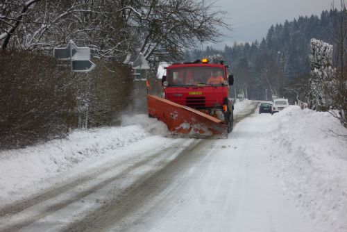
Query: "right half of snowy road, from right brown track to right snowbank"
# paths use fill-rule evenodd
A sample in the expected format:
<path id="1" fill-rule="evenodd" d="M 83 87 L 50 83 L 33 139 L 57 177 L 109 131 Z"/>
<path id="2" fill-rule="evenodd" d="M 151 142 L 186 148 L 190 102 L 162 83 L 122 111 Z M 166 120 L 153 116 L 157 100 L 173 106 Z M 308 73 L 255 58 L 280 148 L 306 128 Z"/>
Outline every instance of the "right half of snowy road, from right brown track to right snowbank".
<path id="1" fill-rule="evenodd" d="M 247 119 L 228 140 L 198 142 L 120 203 L 65 231 L 315 231 L 268 172 L 257 138 L 265 127 Z"/>

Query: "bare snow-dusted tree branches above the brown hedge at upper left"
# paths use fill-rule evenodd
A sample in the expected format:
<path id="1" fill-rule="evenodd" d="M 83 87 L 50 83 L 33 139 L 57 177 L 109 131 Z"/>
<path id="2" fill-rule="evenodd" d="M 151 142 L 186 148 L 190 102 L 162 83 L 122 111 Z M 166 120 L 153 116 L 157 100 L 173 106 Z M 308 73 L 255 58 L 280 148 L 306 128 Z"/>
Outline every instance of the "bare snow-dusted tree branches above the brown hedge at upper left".
<path id="1" fill-rule="evenodd" d="M 223 12 L 208 0 L 12 0 L 0 3 L 0 44 L 51 53 L 74 40 L 94 57 L 129 61 L 139 49 L 183 55 L 201 41 L 215 42 Z"/>

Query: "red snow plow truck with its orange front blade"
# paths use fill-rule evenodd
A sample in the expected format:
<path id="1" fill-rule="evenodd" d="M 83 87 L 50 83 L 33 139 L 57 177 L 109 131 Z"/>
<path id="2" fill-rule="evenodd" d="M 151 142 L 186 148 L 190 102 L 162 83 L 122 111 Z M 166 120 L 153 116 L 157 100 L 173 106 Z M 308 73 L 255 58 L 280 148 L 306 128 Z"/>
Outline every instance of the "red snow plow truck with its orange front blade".
<path id="1" fill-rule="evenodd" d="M 229 66 L 203 59 L 166 69 L 166 76 L 162 76 L 163 97 L 147 95 L 149 117 L 167 124 L 174 134 L 191 138 L 228 137 L 234 108 L 229 99 L 234 82 Z"/>

